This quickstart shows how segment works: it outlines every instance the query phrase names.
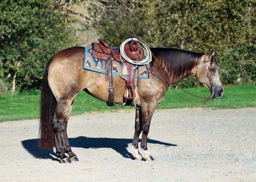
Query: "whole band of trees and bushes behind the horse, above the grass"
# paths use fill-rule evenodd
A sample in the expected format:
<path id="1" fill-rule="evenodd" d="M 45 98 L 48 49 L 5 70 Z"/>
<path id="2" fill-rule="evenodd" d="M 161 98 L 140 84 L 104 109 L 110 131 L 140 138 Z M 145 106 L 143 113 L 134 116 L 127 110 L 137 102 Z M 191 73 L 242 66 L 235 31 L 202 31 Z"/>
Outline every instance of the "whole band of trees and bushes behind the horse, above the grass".
<path id="1" fill-rule="evenodd" d="M 154 47 L 204 53 L 217 47 L 224 84 L 255 84 L 255 17 L 250 0 L 2 0 L 0 93 L 40 88 L 46 61 L 84 44 L 78 27 L 112 46 L 136 33 Z"/>

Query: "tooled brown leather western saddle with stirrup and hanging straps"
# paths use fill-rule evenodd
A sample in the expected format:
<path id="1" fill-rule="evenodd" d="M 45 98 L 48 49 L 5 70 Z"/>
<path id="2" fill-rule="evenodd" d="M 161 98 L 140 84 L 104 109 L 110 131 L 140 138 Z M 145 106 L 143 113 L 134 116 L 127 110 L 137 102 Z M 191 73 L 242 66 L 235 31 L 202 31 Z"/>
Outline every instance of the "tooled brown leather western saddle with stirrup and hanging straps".
<path id="1" fill-rule="evenodd" d="M 131 38 L 137 38 L 137 35 L 131 35 Z M 139 41 L 131 40 L 124 45 L 124 53 L 133 61 L 141 61 L 144 58 L 144 50 L 139 46 Z M 109 80 L 108 106 L 114 106 L 114 87 L 113 87 L 113 70 L 112 61 L 122 62 L 120 76 L 125 80 L 124 98 L 127 101 L 134 101 L 135 97 L 135 71 L 137 65 L 126 62 L 120 55 L 120 47 L 111 48 L 103 39 L 98 39 L 99 43 L 93 42 L 92 56 L 97 59 L 106 60 L 107 74 Z"/>

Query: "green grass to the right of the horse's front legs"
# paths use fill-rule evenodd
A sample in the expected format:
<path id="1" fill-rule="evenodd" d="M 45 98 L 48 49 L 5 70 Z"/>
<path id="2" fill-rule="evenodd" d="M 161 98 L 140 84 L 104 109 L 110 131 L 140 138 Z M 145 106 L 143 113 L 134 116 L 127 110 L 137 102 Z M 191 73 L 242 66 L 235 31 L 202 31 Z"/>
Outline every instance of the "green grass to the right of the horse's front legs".
<path id="1" fill-rule="evenodd" d="M 187 88 L 186 91 L 195 95 L 210 96 L 210 92 L 204 87 Z M 186 98 L 198 100 L 187 94 L 178 91 Z M 200 98 L 199 98 L 200 99 Z M 171 109 L 183 107 L 200 107 L 201 103 L 188 102 L 177 96 L 171 89 L 166 93 L 165 98 L 158 106 L 158 109 Z M 211 108 L 241 108 L 241 107 L 256 107 L 256 86 L 227 86 L 224 87 L 224 95 L 221 98 L 215 98 L 214 102 L 209 101 L 205 107 Z"/>

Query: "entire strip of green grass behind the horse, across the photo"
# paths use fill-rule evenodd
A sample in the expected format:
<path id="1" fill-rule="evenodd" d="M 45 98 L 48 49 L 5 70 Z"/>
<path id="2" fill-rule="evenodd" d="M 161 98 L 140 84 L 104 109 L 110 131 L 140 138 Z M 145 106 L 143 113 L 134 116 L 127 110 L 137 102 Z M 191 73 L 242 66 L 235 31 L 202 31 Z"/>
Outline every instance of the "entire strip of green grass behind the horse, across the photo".
<path id="1" fill-rule="evenodd" d="M 200 96 L 210 96 L 210 92 L 203 87 L 188 88 L 187 91 Z M 178 90 L 177 90 L 178 91 Z M 178 93 L 181 93 L 178 91 Z M 183 94 L 186 98 L 189 95 Z M 190 98 L 195 99 L 197 98 Z M 0 96 L 0 121 L 34 119 L 39 116 L 40 91 L 29 91 L 16 95 Z M 188 102 L 174 93 L 167 91 L 165 98 L 158 106 L 158 109 L 200 107 L 200 103 Z M 215 108 L 240 108 L 256 107 L 256 86 L 227 86 L 224 87 L 224 96 L 215 98 L 214 102 L 209 101 L 205 107 Z M 125 109 L 133 109 L 125 107 Z M 106 112 L 116 111 L 116 108 L 108 107 L 106 102 L 102 102 L 92 96 L 82 92 L 78 94 L 74 101 L 72 115 L 84 112 Z"/>

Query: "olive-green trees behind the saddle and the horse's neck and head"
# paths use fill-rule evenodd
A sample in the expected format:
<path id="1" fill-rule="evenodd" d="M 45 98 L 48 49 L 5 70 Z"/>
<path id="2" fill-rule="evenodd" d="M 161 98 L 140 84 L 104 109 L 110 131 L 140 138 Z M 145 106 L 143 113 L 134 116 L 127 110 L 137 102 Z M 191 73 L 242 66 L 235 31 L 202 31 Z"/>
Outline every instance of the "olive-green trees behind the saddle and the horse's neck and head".
<path id="1" fill-rule="evenodd" d="M 224 84 L 253 83 L 256 75 L 255 2 L 250 0 L 145 0 L 115 1 L 120 11 L 109 11 L 94 22 L 98 34 L 120 45 L 136 33 L 154 47 L 174 47 L 215 56 Z M 113 2 L 106 2 L 113 5 Z M 128 11 L 129 10 L 129 11 Z M 91 8 L 91 16 L 98 14 Z M 118 17 L 121 17 L 119 19 Z M 182 86 L 197 86 L 188 78 Z"/>

